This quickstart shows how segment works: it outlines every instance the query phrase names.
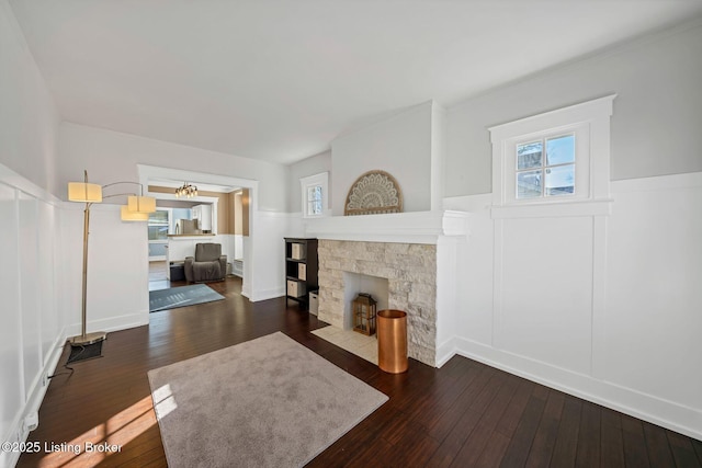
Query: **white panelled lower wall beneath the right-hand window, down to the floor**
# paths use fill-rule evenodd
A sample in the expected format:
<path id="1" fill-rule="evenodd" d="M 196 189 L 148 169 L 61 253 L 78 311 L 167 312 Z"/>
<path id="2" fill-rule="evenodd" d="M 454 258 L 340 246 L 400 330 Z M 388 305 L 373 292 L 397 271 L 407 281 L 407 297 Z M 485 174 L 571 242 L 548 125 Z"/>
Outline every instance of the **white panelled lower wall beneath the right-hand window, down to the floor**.
<path id="1" fill-rule="evenodd" d="M 458 354 L 702 437 L 702 173 L 612 183 L 611 216 L 472 212 Z"/>

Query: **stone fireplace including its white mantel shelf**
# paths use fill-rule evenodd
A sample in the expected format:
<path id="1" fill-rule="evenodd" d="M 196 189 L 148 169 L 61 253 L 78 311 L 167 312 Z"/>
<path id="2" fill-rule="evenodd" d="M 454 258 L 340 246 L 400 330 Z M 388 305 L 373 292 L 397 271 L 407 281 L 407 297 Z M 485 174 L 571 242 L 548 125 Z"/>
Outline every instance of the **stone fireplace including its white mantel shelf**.
<path id="1" fill-rule="evenodd" d="M 387 281 L 383 308 L 407 312 L 408 355 L 435 366 L 442 309 L 455 300 L 456 239 L 466 237 L 465 214 L 421 212 L 331 217 L 310 221 L 309 237 L 319 239 L 318 318 L 349 329 L 349 277 L 367 275 Z M 451 239 L 448 241 L 448 239 Z M 445 259 L 445 260 L 444 260 Z M 438 294 L 438 284 L 442 284 Z M 356 285 L 351 287 L 358 288 Z M 452 297 L 453 296 L 453 297 Z M 378 308 L 380 310 L 380 308 Z M 450 312 L 449 312 L 450 313 Z M 445 330 L 444 334 L 450 333 Z"/>

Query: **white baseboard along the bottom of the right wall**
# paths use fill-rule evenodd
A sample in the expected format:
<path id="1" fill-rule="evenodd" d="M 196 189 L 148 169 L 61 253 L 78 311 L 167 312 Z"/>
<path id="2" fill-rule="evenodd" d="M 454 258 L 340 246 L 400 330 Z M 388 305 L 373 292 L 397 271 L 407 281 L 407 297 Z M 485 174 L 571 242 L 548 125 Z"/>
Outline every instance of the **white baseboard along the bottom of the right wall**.
<path id="1" fill-rule="evenodd" d="M 605 380 L 573 373 L 472 340 L 455 338 L 455 354 L 478 361 L 584 400 L 702 440 L 702 412 Z M 449 356 L 442 350 L 443 358 Z M 450 358 L 450 357 L 449 357 Z M 446 359 L 448 361 L 448 359 Z"/>

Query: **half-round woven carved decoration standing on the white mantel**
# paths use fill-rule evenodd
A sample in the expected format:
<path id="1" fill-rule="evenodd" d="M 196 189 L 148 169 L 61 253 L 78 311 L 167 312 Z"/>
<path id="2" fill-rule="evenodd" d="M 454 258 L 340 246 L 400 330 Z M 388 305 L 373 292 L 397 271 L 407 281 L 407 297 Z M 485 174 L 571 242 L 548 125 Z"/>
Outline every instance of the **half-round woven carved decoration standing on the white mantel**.
<path id="1" fill-rule="evenodd" d="M 355 180 L 343 208 L 344 216 L 403 212 L 403 192 L 385 171 L 369 171 Z"/>

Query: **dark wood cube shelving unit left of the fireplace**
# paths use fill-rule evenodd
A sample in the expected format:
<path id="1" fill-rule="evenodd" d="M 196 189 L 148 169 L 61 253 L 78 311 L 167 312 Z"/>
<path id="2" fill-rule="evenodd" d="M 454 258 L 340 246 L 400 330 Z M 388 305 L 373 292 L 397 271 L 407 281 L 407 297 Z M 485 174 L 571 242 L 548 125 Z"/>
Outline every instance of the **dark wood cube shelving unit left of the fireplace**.
<path id="1" fill-rule="evenodd" d="M 285 238 L 285 298 L 309 307 L 309 292 L 319 288 L 317 239 Z"/>

